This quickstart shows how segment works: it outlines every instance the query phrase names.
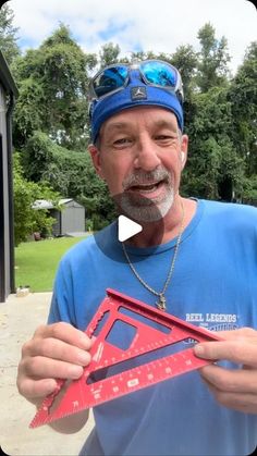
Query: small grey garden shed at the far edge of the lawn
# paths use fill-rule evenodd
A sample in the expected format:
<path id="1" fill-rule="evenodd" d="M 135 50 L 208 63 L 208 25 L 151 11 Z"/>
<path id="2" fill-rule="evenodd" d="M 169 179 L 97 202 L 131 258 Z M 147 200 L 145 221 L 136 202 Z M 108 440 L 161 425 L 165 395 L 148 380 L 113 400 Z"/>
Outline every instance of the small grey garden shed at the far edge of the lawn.
<path id="1" fill-rule="evenodd" d="M 34 204 L 34 209 L 47 209 L 49 215 L 56 219 L 52 226 L 53 236 L 75 236 L 85 233 L 85 208 L 72 198 L 60 199 L 62 207 L 58 210 L 51 201 L 38 199 Z"/>

